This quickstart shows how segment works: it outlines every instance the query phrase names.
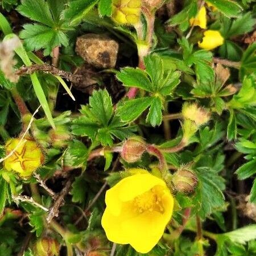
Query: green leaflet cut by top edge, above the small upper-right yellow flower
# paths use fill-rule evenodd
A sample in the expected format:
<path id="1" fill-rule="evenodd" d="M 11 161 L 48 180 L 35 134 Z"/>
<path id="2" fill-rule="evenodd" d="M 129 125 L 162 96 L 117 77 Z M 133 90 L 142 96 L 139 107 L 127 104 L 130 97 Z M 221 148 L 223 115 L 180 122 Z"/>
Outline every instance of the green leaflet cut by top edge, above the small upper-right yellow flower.
<path id="1" fill-rule="evenodd" d="M 237 17 L 242 11 L 242 7 L 232 0 L 208 0 L 208 2 L 230 18 Z"/>

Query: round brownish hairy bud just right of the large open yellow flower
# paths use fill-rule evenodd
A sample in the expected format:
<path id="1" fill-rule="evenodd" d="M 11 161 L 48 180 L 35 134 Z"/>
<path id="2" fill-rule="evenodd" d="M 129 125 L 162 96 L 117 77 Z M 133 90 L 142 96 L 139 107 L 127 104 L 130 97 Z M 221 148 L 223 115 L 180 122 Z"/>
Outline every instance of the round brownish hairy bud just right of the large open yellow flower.
<path id="1" fill-rule="evenodd" d="M 172 183 L 176 191 L 192 193 L 197 185 L 197 177 L 188 168 L 180 168 L 172 176 Z"/>

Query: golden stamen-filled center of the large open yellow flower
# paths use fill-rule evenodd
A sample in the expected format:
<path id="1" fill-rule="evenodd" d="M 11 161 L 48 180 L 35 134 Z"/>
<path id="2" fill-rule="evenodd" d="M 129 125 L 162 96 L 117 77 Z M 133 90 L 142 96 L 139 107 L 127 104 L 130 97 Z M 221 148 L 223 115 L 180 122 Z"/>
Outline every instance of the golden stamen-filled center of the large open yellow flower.
<path id="1" fill-rule="evenodd" d="M 151 188 L 149 191 L 135 197 L 133 204 L 134 209 L 139 213 L 143 213 L 147 210 L 150 212 L 156 210 L 160 213 L 164 211 L 161 197 L 156 193 L 155 188 Z"/>

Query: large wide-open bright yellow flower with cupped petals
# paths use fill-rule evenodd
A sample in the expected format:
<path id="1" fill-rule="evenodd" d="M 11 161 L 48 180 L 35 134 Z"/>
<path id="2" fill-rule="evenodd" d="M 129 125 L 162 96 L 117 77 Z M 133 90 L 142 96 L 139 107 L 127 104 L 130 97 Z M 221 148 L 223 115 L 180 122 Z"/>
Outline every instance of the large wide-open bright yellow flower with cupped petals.
<path id="1" fill-rule="evenodd" d="M 162 179 L 145 170 L 131 170 L 136 171 L 106 192 L 101 224 L 110 241 L 130 243 L 139 253 L 147 253 L 170 221 L 174 198 Z"/>

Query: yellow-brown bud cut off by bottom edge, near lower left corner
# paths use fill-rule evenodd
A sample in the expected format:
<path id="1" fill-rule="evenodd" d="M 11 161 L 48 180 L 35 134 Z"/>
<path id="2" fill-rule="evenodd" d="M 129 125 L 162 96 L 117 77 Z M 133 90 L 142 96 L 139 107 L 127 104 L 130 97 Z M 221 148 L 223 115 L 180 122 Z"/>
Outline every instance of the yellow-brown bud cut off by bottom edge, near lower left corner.
<path id="1" fill-rule="evenodd" d="M 38 240 L 35 245 L 35 253 L 38 256 L 58 256 L 59 250 L 59 243 L 51 237 L 44 237 Z"/>

